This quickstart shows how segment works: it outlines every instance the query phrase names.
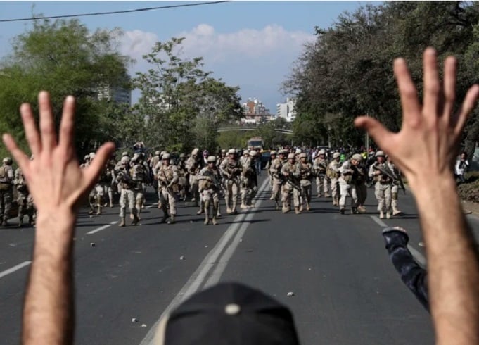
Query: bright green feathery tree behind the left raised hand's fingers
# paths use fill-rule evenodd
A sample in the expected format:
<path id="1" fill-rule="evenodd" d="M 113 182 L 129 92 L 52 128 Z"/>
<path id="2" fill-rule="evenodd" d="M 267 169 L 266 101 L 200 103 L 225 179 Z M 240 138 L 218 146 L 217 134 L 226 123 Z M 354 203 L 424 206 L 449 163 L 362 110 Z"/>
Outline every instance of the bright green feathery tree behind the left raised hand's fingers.
<path id="1" fill-rule="evenodd" d="M 65 96 L 77 99 L 77 148 L 90 151 L 105 140 L 111 106 L 98 102 L 97 87 L 128 87 L 127 64 L 116 47 L 120 30 L 89 32 L 79 20 L 34 20 L 32 27 L 13 40 L 12 52 L 0 63 L 0 129 L 22 133 L 18 108 L 21 103 L 37 106 L 37 94 L 51 94 L 56 123 Z M 34 113 L 37 113 L 36 111 Z M 23 136 L 21 136 L 23 137 Z M 20 141 L 25 149 L 25 142 Z"/>

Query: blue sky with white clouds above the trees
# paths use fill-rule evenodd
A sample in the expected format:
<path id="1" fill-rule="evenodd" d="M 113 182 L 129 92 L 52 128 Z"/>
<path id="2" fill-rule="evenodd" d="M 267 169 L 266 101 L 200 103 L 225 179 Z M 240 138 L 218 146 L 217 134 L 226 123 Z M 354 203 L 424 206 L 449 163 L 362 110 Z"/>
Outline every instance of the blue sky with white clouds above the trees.
<path id="1" fill-rule="evenodd" d="M 71 15 L 190 4 L 193 1 L 0 1 L 0 19 L 30 18 L 32 13 Z M 137 13 L 79 17 L 90 30 L 120 27 L 120 50 L 136 59 L 130 72 L 146 70 L 141 55 L 157 41 L 186 37 L 184 58 L 203 56 L 205 70 L 239 86 L 243 101 L 260 99 L 275 112 L 284 100 L 281 82 L 313 39 L 314 26 L 328 27 L 343 11 L 365 1 L 235 1 Z M 0 23 L 0 58 L 11 51 L 11 39 L 30 22 Z M 134 100 L 138 93 L 134 93 Z"/>

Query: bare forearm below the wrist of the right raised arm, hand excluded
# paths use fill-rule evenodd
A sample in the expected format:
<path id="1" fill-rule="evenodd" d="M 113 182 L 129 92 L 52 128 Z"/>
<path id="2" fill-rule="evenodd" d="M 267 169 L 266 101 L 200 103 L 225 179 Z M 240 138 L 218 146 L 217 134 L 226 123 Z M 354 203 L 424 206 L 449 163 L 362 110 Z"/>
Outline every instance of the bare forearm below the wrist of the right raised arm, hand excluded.
<path id="1" fill-rule="evenodd" d="M 479 344 L 479 261 L 452 176 L 414 183 L 438 344 Z M 445 197 L 447 196 L 447 197 Z"/>

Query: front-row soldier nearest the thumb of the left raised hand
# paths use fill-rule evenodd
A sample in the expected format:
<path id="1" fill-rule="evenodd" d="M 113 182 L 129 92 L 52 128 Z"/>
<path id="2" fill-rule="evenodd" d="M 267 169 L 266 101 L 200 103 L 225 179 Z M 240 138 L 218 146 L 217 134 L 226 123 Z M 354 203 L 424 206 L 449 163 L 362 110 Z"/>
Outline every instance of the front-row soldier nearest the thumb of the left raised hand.
<path id="1" fill-rule="evenodd" d="M 120 160 L 120 168 L 115 171 L 117 177 L 117 182 L 121 184 L 121 193 L 120 193 L 120 227 L 125 225 L 125 213 L 127 205 L 130 210 L 130 218 L 132 218 L 132 225 L 136 225 L 139 222 L 138 215 L 136 215 L 135 207 L 135 195 L 134 195 L 134 185 L 135 182 L 132 180 L 132 171 L 129 167 L 129 157 L 123 156 Z"/>

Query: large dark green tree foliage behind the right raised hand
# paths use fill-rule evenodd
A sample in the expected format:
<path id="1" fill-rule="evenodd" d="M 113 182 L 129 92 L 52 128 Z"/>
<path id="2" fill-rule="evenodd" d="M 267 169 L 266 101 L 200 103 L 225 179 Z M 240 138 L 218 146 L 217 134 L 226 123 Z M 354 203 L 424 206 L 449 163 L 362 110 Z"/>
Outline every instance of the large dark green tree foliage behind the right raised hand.
<path id="1" fill-rule="evenodd" d="M 297 97 L 295 139 L 333 146 L 364 144 L 352 121 L 378 118 L 390 130 L 401 126 L 400 99 L 392 61 L 407 60 L 422 94 L 422 53 L 434 46 L 440 59 L 454 54 L 460 63 L 456 99 L 462 101 L 479 75 L 479 4 L 467 1 L 390 1 L 343 13 L 326 29 L 316 27 L 283 82 L 283 92 Z M 458 103 L 459 106 L 459 103 Z M 479 113 L 466 127 L 466 151 L 479 139 Z"/>

